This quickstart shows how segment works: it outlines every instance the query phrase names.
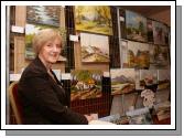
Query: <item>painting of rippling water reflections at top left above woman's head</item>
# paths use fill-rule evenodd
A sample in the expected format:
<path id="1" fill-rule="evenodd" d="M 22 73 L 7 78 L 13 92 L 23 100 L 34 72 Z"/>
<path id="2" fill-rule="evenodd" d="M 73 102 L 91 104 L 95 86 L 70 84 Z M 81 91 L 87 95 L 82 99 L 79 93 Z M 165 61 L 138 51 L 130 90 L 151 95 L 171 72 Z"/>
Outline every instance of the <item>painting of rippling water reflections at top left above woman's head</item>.
<path id="1" fill-rule="evenodd" d="M 61 7 L 58 6 L 28 6 L 26 22 L 59 26 Z"/>

